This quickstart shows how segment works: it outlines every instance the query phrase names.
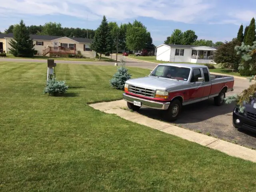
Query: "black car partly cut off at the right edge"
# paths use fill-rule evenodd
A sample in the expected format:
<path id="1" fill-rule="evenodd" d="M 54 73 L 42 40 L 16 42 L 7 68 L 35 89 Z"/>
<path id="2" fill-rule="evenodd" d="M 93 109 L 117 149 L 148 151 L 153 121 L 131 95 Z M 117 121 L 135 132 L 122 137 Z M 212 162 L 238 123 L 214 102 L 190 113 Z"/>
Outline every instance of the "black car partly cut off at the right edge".
<path id="1" fill-rule="evenodd" d="M 256 132 L 256 103 L 244 104 L 244 113 L 239 112 L 238 107 L 233 111 L 233 125 L 237 129 L 246 129 Z"/>

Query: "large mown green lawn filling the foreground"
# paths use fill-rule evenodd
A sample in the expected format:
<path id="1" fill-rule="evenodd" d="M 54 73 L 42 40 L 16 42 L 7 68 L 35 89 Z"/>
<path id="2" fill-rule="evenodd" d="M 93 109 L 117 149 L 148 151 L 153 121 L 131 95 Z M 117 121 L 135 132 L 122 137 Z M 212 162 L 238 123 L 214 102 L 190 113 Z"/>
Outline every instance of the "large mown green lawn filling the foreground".
<path id="1" fill-rule="evenodd" d="M 115 72 L 58 64 L 70 89 L 50 97 L 45 64 L 0 63 L 0 191 L 255 190 L 256 164 L 88 106 L 122 98 Z"/>

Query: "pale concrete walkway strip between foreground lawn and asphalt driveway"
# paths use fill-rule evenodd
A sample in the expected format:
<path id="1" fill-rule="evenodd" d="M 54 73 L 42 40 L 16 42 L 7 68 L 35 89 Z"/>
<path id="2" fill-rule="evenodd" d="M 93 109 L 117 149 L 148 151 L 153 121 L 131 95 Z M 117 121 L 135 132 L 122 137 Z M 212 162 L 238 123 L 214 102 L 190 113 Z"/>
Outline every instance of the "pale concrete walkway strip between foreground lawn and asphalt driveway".
<path id="1" fill-rule="evenodd" d="M 240 145 L 232 144 L 230 142 L 226 142 L 214 137 L 206 136 L 204 134 L 196 133 L 194 131 L 180 128 L 172 124 L 154 120 L 146 116 L 142 116 L 138 113 L 130 112 L 128 110 L 123 110 L 121 108 L 124 108 L 127 106 L 124 100 L 90 104 L 90 106 L 102 112 L 105 112 L 108 114 L 116 114 L 126 120 L 148 126 L 150 128 L 165 132 L 167 134 L 178 136 L 180 138 L 198 143 L 203 146 L 207 146 L 212 149 L 219 150 L 230 156 L 235 156 L 238 158 L 242 158 L 244 160 L 256 162 L 256 150 L 252 150 Z"/>

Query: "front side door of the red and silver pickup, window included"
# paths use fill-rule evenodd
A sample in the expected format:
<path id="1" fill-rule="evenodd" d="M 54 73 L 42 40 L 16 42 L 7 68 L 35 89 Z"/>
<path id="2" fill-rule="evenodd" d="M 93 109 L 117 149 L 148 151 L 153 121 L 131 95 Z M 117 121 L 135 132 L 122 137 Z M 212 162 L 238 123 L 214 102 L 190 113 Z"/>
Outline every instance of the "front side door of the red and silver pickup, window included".
<path id="1" fill-rule="evenodd" d="M 190 84 L 192 89 L 189 90 L 189 100 L 198 100 L 204 94 L 204 82 L 198 82 L 198 78 L 202 77 L 200 68 L 193 69 Z"/>

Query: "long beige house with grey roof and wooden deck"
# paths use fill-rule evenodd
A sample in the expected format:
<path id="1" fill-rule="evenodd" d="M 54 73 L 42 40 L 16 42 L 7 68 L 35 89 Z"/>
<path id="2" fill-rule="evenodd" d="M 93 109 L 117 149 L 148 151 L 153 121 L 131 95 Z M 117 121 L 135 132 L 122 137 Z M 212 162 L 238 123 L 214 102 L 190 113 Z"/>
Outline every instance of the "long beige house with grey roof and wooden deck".
<path id="1" fill-rule="evenodd" d="M 0 52 L 8 53 L 10 51 L 10 40 L 13 34 L 0 34 Z M 67 56 L 68 54 L 77 54 L 81 51 L 84 57 L 93 58 L 96 53 L 90 49 L 91 39 L 87 38 L 69 38 L 50 35 L 30 35 L 35 44 L 34 48 L 38 55 L 45 56 Z"/>

